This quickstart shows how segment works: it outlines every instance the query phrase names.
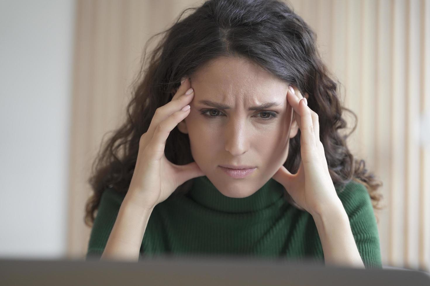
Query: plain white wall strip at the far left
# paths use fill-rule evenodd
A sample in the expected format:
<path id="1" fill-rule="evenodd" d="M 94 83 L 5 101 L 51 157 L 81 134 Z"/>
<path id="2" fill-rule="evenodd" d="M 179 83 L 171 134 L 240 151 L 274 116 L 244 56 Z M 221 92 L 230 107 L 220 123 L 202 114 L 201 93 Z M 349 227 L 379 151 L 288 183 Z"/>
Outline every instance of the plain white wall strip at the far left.
<path id="1" fill-rule="evenodd" d="M 0 259 L 66 252 L 74 0 L 0 0 Z"/>

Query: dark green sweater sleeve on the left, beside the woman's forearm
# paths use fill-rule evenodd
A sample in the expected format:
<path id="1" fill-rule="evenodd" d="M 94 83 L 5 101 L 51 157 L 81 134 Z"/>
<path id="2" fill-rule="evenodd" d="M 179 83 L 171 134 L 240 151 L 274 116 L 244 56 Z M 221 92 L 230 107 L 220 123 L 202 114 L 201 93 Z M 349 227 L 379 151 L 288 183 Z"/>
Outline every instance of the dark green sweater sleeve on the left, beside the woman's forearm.
<path id="1" fill-rule="evenodd" d="M 121 195 L 114 189 L 106 189 L 102 193 L 89 237 L 86 260 L 100 259 L 107 239 L 111 234 L 112 228 L 114 228 L 124 197 L 124 195 Z"/>

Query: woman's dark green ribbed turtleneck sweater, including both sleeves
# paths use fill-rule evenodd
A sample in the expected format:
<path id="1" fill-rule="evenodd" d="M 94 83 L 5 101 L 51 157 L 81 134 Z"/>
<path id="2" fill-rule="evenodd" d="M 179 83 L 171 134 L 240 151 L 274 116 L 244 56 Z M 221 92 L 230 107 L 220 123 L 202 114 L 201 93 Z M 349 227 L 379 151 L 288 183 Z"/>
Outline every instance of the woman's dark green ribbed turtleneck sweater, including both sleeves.
<path id="1" fill-rule="evenodd" d="M 313 217 L 289 204 L 283 198 L 284 187 L 274 179 L 246 198 L 222 195 L 207 176 L 192 180 L 187 195 L 170 196 L 154 207 L 139 257 L 251 255 L 324 262 Z M 378 228 L 367 189 L 351 181 L 338 197 L 365 268 L 382 268 Z M 123 198 L 114 189 L 103 192 L 86 259 L 103 253 Z"/>

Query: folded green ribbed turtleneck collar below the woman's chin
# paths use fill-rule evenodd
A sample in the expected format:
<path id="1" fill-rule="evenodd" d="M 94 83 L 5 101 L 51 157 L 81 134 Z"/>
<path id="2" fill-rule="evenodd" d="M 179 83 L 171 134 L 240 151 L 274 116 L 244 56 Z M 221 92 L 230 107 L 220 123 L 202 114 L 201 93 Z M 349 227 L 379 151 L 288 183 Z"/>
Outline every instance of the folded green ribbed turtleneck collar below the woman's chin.
<path id="1" fill-rule="evenodd" d="M 228 213 L 247 213 L 262 210 L 283 200 L 285 188 L 270 178 L 258 191 L 246 198 L 230 198 L 221 194 L 207 176 L 193 179 L 188 196 L 203 207 Z"/>

